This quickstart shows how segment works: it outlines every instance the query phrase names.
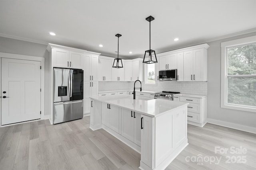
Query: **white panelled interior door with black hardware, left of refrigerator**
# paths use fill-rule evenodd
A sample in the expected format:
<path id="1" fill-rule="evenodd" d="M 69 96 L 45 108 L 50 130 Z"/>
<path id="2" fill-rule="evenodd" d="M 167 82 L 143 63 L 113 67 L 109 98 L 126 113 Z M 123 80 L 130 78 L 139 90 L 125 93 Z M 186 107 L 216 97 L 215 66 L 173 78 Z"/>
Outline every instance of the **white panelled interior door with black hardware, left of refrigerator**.
<path id="1" fill-rule="evenodd" d="M 40 61 L 2 58 L 2 125 L 40 119 L 40 80 Z"/>

